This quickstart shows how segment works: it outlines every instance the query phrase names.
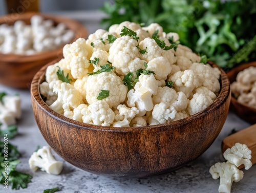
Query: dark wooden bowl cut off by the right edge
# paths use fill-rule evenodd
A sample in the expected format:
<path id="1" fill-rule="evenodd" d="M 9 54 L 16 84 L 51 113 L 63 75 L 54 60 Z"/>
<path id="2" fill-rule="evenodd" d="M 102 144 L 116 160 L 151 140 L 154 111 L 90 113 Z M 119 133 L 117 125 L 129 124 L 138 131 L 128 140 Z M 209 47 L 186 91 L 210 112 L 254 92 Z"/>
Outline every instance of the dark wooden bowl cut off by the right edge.
<path id="1" fill-rule="evenodd" d="M 231 69 L 228 73 L 228 79 L 230 83 L 236 81 L 237 75 L 239 72 L 243 71 L 250 66 L 256 67 L 256 61 L 244 63 L 236 68 Z M 231 95 L 231 104 L 230 110 L 236 113 L 241 119 L 249 123 L 256 123 L 256 109 L 251 108 L 250 106 L 240 103 L 234 96 Z"/>

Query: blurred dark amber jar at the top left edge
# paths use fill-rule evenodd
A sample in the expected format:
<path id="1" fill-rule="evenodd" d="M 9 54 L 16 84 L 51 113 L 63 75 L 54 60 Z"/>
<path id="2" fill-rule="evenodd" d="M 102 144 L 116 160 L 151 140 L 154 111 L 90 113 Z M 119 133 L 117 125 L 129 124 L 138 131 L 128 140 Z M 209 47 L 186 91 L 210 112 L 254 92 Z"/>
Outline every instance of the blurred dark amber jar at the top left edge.
<path id="1" fill-rule="evenodd" d="M 39 0 L 6 0 L 8 13 L 39 12 Z"/>

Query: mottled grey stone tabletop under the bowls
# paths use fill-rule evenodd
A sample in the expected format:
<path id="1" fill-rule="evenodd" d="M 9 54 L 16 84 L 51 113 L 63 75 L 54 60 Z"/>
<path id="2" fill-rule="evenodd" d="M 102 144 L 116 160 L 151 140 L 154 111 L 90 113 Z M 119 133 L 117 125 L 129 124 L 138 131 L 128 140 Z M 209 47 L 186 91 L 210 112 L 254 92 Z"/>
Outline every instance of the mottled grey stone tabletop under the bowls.
<path id="1" fill-rule="evenodd" d="M 63 13 L 61 13 L 63 14 Z M 84 18 L 84 15 L 65 14 L 66 16 L 77 17 L 81 23 L 87 26 L 90 33 L 98 29 L 98 21 Z M 80 18 L 80 19 L 79 19 Z M 17 193 L 37 193 L 43 192 L 44 189 L 59 187 L 63 193 L 214 193 L 218 192 L 219 180 L 214 180 L 209 174 L 209 167 L 216 162 L 224 161 L 221 154 L 221 142 L 230 133 L 233 128 L 242 130 L 250 124 L 241 120 L 232 112 L 229 112 L 223 129 L 214 141 L 214 143 L 195 161 L 189 163 L 185 167 L 174 171 L 173 173 L 150 177 L 144 179 L 125 179 L 98 176 L 78 169 L 68 162 L 64 161 L 64 167 L 61 175 L 48 175 L 43 171 L 32 171 L 29 168 L 28 159 L 35 151 L 36 146 L 47 145 L 45 139 L 41 136 L 37 124 L 34 119 L 30 92 L 28 90 L 16 90 L 5 87 L 0 84 L 0 92 L 8 94 L 20 94 L 22 97 L 22 119 L 18 121 L 18 135 L 9 140 L 10 143 L 18 146 L 18 150 L 22 153 L 21 163 L 17 169 L 33 176 L 32 183 L 28 184 L 27 189 L 12 190 L 4 189 L 0 185 L 0 192 L 17 192 Z M 47 126 L 47 125 L 46 125 Z M 62 160 L 56 154 L 57 160 Z M 249 170 L 244 171 L 244 178 L 233 183 L 232 193 L 252 193 L 256 189 L 256 165 Z"/>

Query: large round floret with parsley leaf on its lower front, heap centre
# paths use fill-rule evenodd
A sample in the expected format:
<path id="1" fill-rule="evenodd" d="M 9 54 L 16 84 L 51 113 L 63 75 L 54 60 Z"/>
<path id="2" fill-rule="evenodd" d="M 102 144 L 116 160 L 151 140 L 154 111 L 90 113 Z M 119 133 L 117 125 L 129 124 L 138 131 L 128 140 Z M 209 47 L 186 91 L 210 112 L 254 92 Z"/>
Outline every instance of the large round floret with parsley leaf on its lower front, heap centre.
<path id="1" fill-rule="evenodd" d="M 86 100 L 89 104 L 98 101 L 97 97 L 101 90 L 109 91 L 109 96 L 103 101 L 110 105 L 110 108 L 118 106 L 125 100 L 127 87 L 119 76 L 113 72 L 102 72 L 94 74 L 87 79 Z"/>

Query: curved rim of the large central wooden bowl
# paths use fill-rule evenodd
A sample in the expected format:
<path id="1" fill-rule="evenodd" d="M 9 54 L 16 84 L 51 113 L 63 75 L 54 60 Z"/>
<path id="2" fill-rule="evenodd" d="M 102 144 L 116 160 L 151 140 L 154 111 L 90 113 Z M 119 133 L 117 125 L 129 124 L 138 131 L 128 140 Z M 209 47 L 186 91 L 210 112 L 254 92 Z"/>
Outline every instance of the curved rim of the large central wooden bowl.
<path id="1" fill-rule="evenodd" d="M 31 84 L 31 97 L 35 99 L 37 105 L 44 110 L 49 116 L 60 120 L 62 122 L 65 122 L 67 124 L 72 124 L 79 129 L 90 129 L 90 130 L 96 130 L 96 131 L 111 131 L 111 132 L 140 132 L 141 130 L 161 130 L 161 131 L 166 131 L 169 130 L 170 127 L 172 127 L 172 130 L 179 130 L 179 125 L 186 125 L 189 124 L 192 121 L 196 121 L 198 119 L 201 119 L 202 117 L 206 116 L 206 114 L 210 114 L 212 111 L 219 109 L 219 107 L 226 102 L 228 99 L 229 95 L 231 94 L 230 90 L 230 83 L 227 78 L 226 73 L 218 67 L 215 63 L 213 62 L 208 62 L 210 63 L 213 67 L 217 67 L 221 71 L 221 77 L 220 77 L 220 83 L 221 83 L 221 90 L 218 95 L 218 97 L 215 99 L 215 101 L 209 105 L 206 109 L 203 111 L 191 115 L 187 118 L 180 119 L 174 122 L 169 122 L 169 123 L 164 123 L 164 124 L 158 124 L 158 125 L 148 125 L 148 126 L 140 126 L 140 127 L 113 127 L 113 126 L 101 126 L 101 125 L 93 125 L 93 124 L 88 124 L 88 123 L 83 123 L 80 121 L 76 121 L 70 118 L 67 118 L 63 115 L 58 114 L 57 112 L 53 111 L 46 103 L 44 100 L 42 100 L 40 93 L 39 93 L 39 83 L 42 82 L 42 80 L 45 79 L 45 72 L 48 66 L 53 65 L 56 63 L 57 60 L 52 61 L 42 67 L 34 76 Z M 35 114 L 36 112 L 34 112 Z M 192 130 L 191 130 L 192 131 Z"/>

